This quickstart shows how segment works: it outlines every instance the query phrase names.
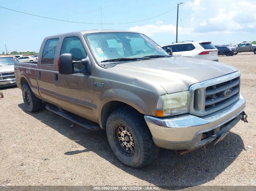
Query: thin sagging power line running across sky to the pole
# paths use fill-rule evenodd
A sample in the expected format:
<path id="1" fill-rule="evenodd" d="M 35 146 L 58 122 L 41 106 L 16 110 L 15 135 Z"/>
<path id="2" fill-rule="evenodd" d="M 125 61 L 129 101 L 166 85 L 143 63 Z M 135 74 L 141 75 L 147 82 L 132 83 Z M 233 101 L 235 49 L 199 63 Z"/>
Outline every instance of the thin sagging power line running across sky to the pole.
<path id="1" fill-rule="evenodd" d="M 83 23 L 83 22 L 76 22 L 76 21 L 66 21 L 66 20 L 61 20 L 61 19 L 55 19 L 55 18 L 49 18 L 49 17 L 40 16 L 40 15 L 25 13 L 25 12 L 21 12 L 21 11 L 16 11 L 16 10 L 9 9 L 9 8 L 6 8 L 6 7 L 1 7 L 1 6 L 0 6 L 0 8 L 4 8 L 4 9 L 10 10 L 10 11 L 15 11 L 15 12 L 18 12 L 18 13 L 28 14 L 28 15 L 32 15 L 32 16 L 36 16 L 36 17 L 42 17 L 42 18 L 52 19 L 52 20 L 56 20 L 56 21 L 65 21 L 65 22 L 71 22 L 71 23 L 81 23 L 81 24 L 128 24 L 128 23 L 136 23 L 136 22 L 140 22 L 140 21 L 146 21 L 146 20 L 149 20 L 149 19 L 152 19 L 152 18 L 159 17 L 163 14 L 166 14 L 166 13 L 174 10 L 176 7 L 167 11 L 167 12 L 165 12 L 165 13 L 159 14 L 155 17 L 151 17 L 151 18 L 147 18 L 147 19 L 143 19 L 143 20 L 139 20 L 139 21 L 126 22 L 126 23 Z"/>

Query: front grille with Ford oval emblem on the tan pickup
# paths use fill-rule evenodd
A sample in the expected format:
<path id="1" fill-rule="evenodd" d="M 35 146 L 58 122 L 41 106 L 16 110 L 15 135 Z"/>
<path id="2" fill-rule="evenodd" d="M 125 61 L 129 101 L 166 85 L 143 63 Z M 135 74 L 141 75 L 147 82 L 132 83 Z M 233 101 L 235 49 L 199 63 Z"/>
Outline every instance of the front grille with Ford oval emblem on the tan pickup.
<path id="1" fill-rule="evenodd" d="M 234 103 L 240 96 L 240 72 L 203 81 L 190 87 L 190 113 L 205 116 Z"/>

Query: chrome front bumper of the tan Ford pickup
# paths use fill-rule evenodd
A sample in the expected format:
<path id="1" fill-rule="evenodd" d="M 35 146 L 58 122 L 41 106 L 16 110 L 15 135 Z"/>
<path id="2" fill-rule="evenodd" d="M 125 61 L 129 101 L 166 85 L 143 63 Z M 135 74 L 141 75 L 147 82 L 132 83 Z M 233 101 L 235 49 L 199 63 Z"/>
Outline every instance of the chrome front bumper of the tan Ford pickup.
<path id="1" fill-rule="evenodd" d="M 183 114 L 165 118 L 145 115 L 144 118 L 158 147 L 191 150 L 214 141 L 218 135 L 230 130 L 242 118 L 240 114 L 244 108 L 245 99 L 240 94 L 239 99 L 228 107 L 203 117 Z M 203 133 L 212 130 L 215 137 L 201 140 Z"/>

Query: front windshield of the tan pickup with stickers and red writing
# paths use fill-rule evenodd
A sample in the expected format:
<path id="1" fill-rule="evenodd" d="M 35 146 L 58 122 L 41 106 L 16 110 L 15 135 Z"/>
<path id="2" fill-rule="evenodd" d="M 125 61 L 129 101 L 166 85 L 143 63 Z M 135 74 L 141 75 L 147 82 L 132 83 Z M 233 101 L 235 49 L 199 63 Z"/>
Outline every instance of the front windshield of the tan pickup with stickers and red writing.
<path id="1" fill-rule="evenodd" d="M 152 55 L 169 56 L 158 44 L 139 33 L 103 32 L 86 34 L 91 50 L 98 60 L 142 58 Z"/>

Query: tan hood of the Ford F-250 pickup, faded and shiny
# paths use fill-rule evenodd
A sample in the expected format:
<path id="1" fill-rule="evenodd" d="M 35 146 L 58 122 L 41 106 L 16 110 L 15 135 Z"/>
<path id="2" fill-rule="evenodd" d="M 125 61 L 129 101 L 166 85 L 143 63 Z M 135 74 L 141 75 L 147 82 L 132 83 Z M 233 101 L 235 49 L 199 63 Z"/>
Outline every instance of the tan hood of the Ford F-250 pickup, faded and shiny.
<path id="1" fill-rule="evenodd" d="M 192 84 L 238 71 L 224 63 L 185 57 L 126 62 L 109 69 L 127 74 L 133 80 L 161 85 L 167 93 L 185 91 Z"/>

